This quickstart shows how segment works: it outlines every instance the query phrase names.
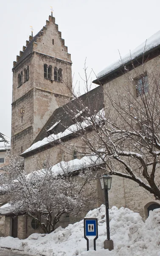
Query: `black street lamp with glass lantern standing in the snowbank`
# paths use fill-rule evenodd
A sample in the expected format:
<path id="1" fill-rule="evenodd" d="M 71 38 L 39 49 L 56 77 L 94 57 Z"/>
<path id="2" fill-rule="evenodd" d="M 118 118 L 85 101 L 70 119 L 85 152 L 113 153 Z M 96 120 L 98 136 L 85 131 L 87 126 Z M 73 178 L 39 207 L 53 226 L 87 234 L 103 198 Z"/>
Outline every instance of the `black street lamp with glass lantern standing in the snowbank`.
<path id="1" fill-rule="evenodd" d="M 111 188 L 112 177 L 104 174 L 100 178 L 101 189 L 104 190 L 105 195 L 105 206 L 106 206 L 106 225 L 107 225 L 107 239 L 104 241 L 104 249 L 113 250 L 113 241 L 110 239 L 109 232 L 109 201 L 108 201 L 108 190 Z"/>

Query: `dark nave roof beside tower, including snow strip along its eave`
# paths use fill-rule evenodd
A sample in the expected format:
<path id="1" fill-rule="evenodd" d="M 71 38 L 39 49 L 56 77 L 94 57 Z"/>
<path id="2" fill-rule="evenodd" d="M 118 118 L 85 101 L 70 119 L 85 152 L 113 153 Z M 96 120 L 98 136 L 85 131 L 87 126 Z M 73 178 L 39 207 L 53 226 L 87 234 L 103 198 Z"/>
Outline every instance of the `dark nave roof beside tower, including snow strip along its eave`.
<path id="1" fill-rule="evenodd" d="M 79 113 L 83 112 L 83 109 L 88 110 L 87 116 L 95 116 L 96 113 L 101 111 L 104 107 L 104 95 L 103 88 L 98 86 L 87 93 L 84 93 L 80 97 L 68 102 L 60 108 L 57 108 L 51 118 L 48 120 L 42 131 L 36 137 L 33 145 L 25 150 L 21 156 L 24 157 L 28 152 L 33 153 L 34 150 L 47 145 L 52 145 L 51 143 L 58 142 L 64 137 L 69 137 L 76 131 L 81 130 L 81 128 L 88 127 L 91 122 L 88 120 L 78 120 Z M 76 119 L 73 122 L 73 118 Z M 77 122 L 75 124 L 75 121 Z M 81 123 L 78 121 L 81 121 Z"/>

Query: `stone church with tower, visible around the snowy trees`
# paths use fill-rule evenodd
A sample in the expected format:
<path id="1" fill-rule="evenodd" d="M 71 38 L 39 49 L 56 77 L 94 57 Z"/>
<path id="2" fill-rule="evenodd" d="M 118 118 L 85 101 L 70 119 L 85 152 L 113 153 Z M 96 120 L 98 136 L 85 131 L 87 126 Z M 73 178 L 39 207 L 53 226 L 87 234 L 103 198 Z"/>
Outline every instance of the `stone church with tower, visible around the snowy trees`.
<path id="1" fill-rule="evenodd" d="M 152 51 L 149 50 L 150 58 L 146 57 L 145 64 L 146 72 L 149 72 L 150 65 L 153 67 L 155 63 L 160 62 L 160 44 L 154 46 Z M 148 52 L 146 56 L 147 54 Z M 141 57 L 136 55 L 134 58 Z M 137 70 L 140 70 L 141 66 L 139 64 Z M 35 159 L 41 159 L 43 167 L 46 155 L 51 157 L 53 165 L 61 161 L 73 161 L 74 164 L 75 159 L 81 161 L 86 145 L 76 136 L 76 130 L 71 131 L 70 127 L 83 120 L 86 113 L 82 105 L 90 110 L 91 116 L 102 111 L 106 108 L 107 99 L 104 92 L 107 84 L 111 83 L 114 87 L 114 81 L 118 81 L 123 87 L 125 81 L 121 65 L 115 63 L 93 81 L 97 86 L 95 89 L 78 99 L 73 99 L 71 56 L 53 16 L 49 16 L 45 26 L 26 41 L 26 46 L 23 46 L 14 61 L 12 71 L 11 154 L 23 157 L 24 169 L 28 173 L 36 170 Z M 141 73 L 141 70 L 138 72 Z M 79 102 L 82 102 L 82 105 Z M 89 129 L 88 131 L 90 132 Z M 64 147 L 59 145 L 59 140 L 64 142 Z M 73 147 L 66 149 L 66 141 L 70 141 Z M 77 148 L 81 148 L 79 155 Z M 96 168 L 99 169 L 100 166 L 101 163 L 97 164 Z M 78 169 L 77 165 L 74 169 Z M 102 168 L 103 171 L 104 169 L 105 167 Z M 92 185 L 95 197 L 100 198 L 95 203 L 95 207 L 98 207 L 104 203 L 103 192 L 98 180 L 94 180 Z M 146 218 L 149 207 L 160 207 L 160 201 L 155 200 L 132 180 L 114 176 L 109 191 L 109 206 L 114 205 L 128 207 Z M 15 218 L 12 212 L 8 212 L 7 205 L 0 208 L 0 213 L 3 218 L 5 216 L 3 227 L 0 228 L 3 230 L 3 236 L 25 239 L 32 233 L 42 233 L 30 217 L 21 214 Z M 66 227 L 84 216 L 85 212 L 77 218 L 64 216 L 59 225 Z"/>

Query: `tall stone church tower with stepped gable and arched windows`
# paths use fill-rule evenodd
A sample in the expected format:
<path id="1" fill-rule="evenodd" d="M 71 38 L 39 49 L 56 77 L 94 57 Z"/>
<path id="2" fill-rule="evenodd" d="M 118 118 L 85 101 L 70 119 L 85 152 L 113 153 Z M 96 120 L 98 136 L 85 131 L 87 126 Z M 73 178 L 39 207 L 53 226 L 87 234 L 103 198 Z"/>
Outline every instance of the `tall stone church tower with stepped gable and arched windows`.
<path id="1" fill-rule="evenodd" d="M 13 64 L 12 154 L 31 146 L 53 111 L 72 99 L 71 65 L 55 18 L 49 16 Z"/>

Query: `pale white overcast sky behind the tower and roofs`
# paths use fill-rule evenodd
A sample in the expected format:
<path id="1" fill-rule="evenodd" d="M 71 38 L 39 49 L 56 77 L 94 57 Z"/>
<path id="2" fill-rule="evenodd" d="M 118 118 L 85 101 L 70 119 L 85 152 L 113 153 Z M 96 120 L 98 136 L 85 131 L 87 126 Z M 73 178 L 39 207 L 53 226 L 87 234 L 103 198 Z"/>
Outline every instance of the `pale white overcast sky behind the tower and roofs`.
<path id="1" fill-rule="evenodd" d="M 50 6 L 71 53 L 74 84 L 86 57 L 88 70 L 97 74 L 119 58 L 118 49 L 123 56 L 160 30 L 160 0 L 0 0 L 0 132 L 9 137 L 13 61 L 29 26 L 35 35 L 45 25 Z"/>

